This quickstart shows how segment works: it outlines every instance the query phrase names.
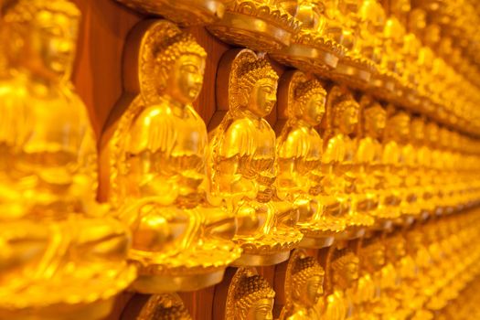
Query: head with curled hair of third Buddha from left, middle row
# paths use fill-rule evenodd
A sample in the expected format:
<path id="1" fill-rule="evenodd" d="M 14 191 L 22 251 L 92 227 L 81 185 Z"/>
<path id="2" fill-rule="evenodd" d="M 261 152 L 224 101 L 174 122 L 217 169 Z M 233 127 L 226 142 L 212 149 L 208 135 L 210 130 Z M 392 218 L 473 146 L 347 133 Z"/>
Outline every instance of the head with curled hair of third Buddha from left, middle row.
<path id="1" fill-rule="evenodd" d="M 244 62 L 238 70 L 239 107 L 262 118 L 277 101 L 278 75 L 266 59 Z"/>

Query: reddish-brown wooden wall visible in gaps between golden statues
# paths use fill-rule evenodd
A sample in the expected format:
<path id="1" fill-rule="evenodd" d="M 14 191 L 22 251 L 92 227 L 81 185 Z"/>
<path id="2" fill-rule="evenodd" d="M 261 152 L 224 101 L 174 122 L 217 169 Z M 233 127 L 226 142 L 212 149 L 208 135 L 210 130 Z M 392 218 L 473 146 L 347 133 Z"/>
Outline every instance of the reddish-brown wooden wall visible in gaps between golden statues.
<path id="1" fill-rule="evenodd" d="M 73 2 L 79 6 L 82 13 L 73 82 L 87 105 L 91 123 L 100 142 L 104 125 L 123 91 L 122 54 L 125 39 L 132 27 L 148 16 L 136 14 L 114 0 L 73 0 Z M 212 37 L 204 27 L 189 27 L 188 31 L 208 52 L 204 85 L 195 107 L 208 126 L 212 127 L 221 119 L 221 114 L 214 117 L 217 66 L 222 54 L 231 46 Z M 283 73 L 283 67 L 273 64 L 279 75 Z M 276 110 L 273 110 L 268 120 L 274 126 Z M 273 286 L 274 267 L 259 268 L 259 272 Z M 226 286 L 227 283 L 219 285 Z M 211 319 L 216 312 L 213 308 L 214 291 L 215 288 L 210 287 L 199 292 L 180 295 L 195 319 Z M 135 314 L 133 309 L 144 302 L 142 296 L 123 293 L 108 319 L 120 319 L 123 313 L 125 317 L 131 318 Z"/>

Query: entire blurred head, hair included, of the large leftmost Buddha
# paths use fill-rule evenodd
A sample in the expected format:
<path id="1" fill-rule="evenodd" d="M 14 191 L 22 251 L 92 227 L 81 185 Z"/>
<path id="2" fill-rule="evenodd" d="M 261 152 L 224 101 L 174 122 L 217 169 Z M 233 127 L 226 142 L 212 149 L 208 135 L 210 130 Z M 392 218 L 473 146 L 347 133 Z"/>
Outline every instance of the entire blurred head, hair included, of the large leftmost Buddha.
<path id="1" fill-rule="evenodd" d="M 67 0 L 8 0 L 2 6 L 7 65 L 32 78 L 69 80 L 75 59 L 79 9 Z"/>

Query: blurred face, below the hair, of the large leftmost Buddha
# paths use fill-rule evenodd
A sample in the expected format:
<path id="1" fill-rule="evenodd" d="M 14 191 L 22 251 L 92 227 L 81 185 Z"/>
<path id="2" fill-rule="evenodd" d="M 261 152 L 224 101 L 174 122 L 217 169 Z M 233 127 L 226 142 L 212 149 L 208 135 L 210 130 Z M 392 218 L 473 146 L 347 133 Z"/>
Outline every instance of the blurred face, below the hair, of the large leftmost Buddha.
<path id="1" fill-rule="evenodd" d="M 78 18 L 59 12 L 40 10 L 30 24 L 20 27 L 25 32 L 21 61 L 32 74 L 46 80 L 69 77 L 72 68 Z M 18 59 L 18 57 L 12 57 Z"/>

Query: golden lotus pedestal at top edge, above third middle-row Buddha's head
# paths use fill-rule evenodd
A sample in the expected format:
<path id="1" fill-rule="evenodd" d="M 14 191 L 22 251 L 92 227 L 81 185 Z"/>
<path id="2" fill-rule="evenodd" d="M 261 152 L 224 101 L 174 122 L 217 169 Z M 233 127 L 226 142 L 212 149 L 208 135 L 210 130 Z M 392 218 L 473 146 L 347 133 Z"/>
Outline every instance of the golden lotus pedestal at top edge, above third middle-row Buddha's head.
<path id="1" fill-rule="evenodd" d="M 294 18 L 297 0 L 231 0 L 219 22 L 208 26 L 215 37 L 239 47 L 277 51 L 290 44 L 301 23 Z"/>

